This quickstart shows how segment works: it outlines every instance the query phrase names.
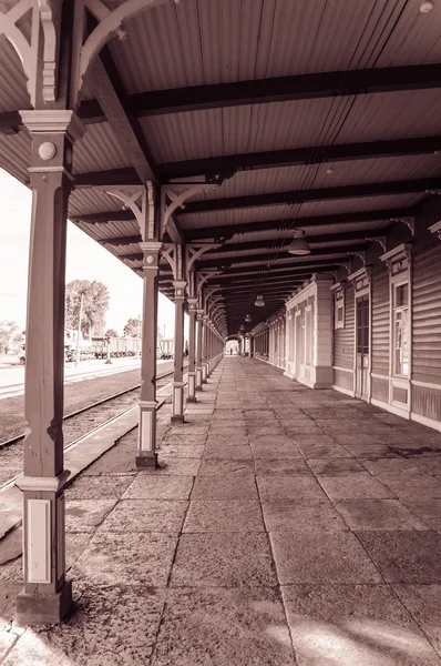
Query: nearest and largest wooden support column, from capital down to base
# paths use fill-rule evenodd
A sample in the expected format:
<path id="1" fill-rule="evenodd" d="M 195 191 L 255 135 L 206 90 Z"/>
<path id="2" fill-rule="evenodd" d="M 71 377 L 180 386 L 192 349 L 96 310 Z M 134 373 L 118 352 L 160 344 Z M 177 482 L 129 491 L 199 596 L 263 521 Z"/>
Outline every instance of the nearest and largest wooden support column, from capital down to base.
<path id="1" fill-rule="evenodd" d="M 21 625 L 58 623 L 72 603 L 65 581 L 63 460 L 64 290 L 72 147 L 83 127 L 72 111 L 23 111 L 32 135 L 31 241 L 24 374 L 24 587 Z"/>

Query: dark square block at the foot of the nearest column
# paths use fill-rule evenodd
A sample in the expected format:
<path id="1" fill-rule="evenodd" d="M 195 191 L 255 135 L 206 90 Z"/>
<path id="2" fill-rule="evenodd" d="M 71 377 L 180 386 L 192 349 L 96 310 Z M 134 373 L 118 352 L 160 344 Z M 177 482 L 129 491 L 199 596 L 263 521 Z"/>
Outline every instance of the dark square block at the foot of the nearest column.
<path id="1" fill-rule="evenodd" d="M 57 624 L 64 619 L 72 607 L 72 582 L 66 581 L 60 592 L 38 594 L 24 592 L 17 596 L 17 624 Z"/>

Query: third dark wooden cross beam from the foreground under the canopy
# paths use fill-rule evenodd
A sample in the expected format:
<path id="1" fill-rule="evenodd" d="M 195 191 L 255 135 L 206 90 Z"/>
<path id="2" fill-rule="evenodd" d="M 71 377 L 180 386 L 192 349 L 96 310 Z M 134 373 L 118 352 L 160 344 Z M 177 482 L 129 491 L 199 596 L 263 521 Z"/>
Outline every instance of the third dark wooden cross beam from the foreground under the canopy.
<path id="1" fill-rule="evenodd" d="M 265 194 L 247 194 L 224 199 L 189 201 L 181 215 L 205 213 L 260 205 L 294 204 L 306 201 L 328 201 L 334 199 L 357 199 L 363 196 L 386 196 L 388 194 L 411 194 L 428 192 L 441 188 L 441 178 L 419 180 L 390 181 L 384 183 L 366 183 L 360 185 L 342 185 L 338 188 L 318 188 L 316 190 L 291 190 L 289 192 L 270 192 Z"/>

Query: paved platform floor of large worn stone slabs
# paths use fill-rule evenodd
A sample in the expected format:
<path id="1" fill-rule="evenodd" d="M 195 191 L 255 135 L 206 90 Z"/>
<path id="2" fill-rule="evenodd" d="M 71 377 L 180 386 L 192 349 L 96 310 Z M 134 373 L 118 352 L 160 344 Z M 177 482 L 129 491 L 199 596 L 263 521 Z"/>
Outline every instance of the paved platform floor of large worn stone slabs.
<path id="1" fill-rule="evenodd" d="M 161 470 L 134 431 L 66 491 L 66 623 L 0 567 L 2 664 L 441 665 L 440 433 L 237 357 L 160 414 Z"/>

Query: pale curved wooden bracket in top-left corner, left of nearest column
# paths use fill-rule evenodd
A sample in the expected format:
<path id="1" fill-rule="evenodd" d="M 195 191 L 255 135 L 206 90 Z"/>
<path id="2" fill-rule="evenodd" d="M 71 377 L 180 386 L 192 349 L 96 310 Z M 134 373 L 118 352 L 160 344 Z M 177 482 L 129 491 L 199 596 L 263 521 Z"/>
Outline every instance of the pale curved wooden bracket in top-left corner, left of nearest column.
<path id="1" fill-rule="evenodd" d="M 62 0 L 20 0 L 9 11 L 0 10 L 0 34 L 11 42 L 23 65 L 32 107 L 37 104 L 37 65 L 43 38 L 43 101 L 57 100 Z M 30 41 L 18 22 L 32 11 Z M 41 31 L 40 31 L 41 26 Z"/>

